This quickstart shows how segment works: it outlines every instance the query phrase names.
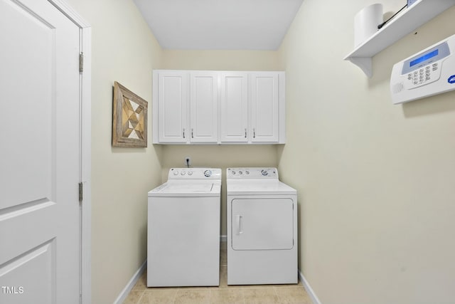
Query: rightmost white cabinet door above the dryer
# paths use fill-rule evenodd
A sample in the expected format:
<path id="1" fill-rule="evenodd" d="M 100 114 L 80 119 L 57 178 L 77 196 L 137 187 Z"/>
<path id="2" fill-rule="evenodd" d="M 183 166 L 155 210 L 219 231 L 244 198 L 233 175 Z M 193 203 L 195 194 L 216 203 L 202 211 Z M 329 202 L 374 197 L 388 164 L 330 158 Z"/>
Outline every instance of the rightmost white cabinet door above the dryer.
<path id="1" fill-rule="evenodd" d="M 278 142 L 278 73 L 250 74 L 252 142 Z"/>

